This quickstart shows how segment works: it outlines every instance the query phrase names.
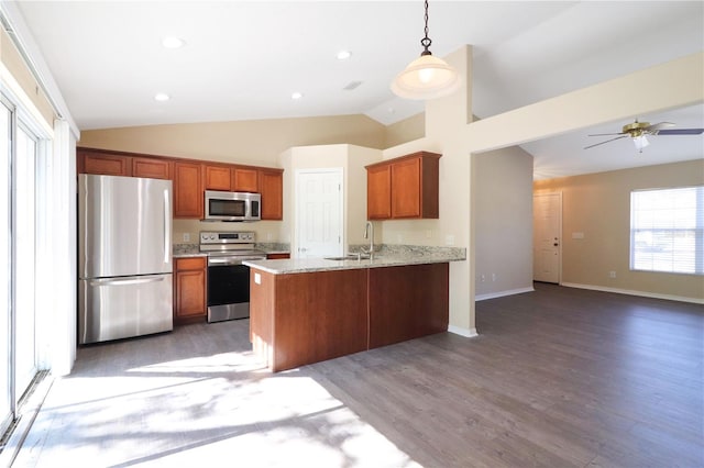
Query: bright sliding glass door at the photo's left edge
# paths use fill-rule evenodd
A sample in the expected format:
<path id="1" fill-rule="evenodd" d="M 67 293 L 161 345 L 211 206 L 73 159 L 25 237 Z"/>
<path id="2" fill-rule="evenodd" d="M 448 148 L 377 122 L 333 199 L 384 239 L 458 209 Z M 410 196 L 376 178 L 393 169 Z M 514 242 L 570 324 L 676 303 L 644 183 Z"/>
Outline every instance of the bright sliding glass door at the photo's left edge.
<path id="1" fill-rule="evenodd" d="M 37 371 L 37 138 L 0 94 L 0 434 Z"/>

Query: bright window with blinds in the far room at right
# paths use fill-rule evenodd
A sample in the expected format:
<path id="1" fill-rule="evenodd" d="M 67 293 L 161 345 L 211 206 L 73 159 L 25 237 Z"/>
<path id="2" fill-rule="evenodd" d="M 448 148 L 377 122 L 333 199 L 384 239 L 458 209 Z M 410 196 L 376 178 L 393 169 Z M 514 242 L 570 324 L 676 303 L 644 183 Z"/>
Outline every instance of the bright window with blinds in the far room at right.
<path id="1" fill-rule="evenodd" d="M 704 186 L 630 192 L 630 269 L 704 275 Z"/>

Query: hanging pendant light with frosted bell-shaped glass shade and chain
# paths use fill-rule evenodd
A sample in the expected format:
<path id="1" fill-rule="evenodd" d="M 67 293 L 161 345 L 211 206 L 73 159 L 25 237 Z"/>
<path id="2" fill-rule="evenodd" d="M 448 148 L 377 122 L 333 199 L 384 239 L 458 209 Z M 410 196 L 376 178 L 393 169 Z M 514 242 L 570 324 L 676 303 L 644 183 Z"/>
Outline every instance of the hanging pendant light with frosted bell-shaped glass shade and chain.
<path id="1" fill-rule="evenodd" d="M 392 82 L 392 91 L 406 99 L 435 99 L 454 92 L 460 86 L 460 79 L 454 68 L 442 58 L 433 57 L 430 53 L 430 37 L 428 37 L 428 0 L 426 0 L 426 36 L 420 40 L 424 51 L 420 57 L 408 64 L 406 69 L 396 76 Z"/>

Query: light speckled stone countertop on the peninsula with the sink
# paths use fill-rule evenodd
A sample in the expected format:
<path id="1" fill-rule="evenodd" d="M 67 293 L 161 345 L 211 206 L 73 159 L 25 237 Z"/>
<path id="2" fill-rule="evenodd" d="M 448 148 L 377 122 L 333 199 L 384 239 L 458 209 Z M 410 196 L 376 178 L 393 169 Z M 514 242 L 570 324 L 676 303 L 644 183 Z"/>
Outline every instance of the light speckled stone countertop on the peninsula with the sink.
<path id="1" fill-rule="evenodd" d="M 245 260 L 250 268 L 274 275 L 290 275 L 311 271 L 350 270 L 360 268 L 383 268 L 404 265 L 447 264 L 466 259 L 464 248 L 407 247 L 405 249 L 385 249 L 374 259 L 328 260 L 324 258 L 294 258 L 279 260 Z"/>

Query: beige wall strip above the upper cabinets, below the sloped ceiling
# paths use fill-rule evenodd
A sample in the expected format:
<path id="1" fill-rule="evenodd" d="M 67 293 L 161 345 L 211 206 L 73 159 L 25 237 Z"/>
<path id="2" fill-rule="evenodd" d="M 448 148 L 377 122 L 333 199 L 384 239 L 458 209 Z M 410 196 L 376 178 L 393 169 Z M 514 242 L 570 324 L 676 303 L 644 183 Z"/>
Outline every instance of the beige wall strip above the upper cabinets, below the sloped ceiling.
<path id="1" fill-rule="evenodd" d="M 277 166 L 294 146 L 352 144 L 382 148 L 384 125 L 365 115 L 183 123 L 86 130 L 79 146 Z"/>

